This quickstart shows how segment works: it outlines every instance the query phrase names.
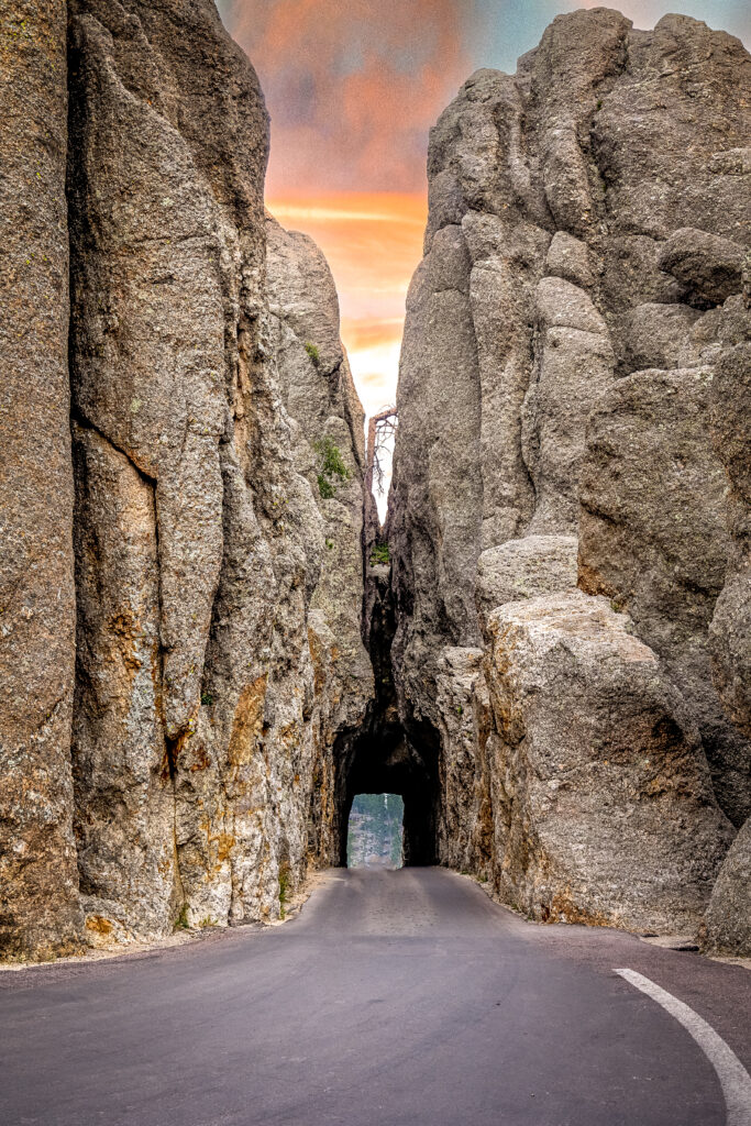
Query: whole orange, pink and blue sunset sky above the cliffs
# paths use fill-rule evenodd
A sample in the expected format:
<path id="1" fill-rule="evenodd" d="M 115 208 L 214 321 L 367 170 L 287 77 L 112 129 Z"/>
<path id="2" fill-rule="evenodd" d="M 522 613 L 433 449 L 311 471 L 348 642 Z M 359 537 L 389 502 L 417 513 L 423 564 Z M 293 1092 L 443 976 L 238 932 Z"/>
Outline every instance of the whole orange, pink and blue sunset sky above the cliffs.
<path id="1" fill-rule="evenodd" d="M 340 295 L 363 404 L 395 399 L 422 254 L 428 132 L 479 66 L 507 72 L 555 16 L 601 0 L 218 0 L 271 115 L 269 208 L 312 235 Z M 614 0 L 636 27 L 679 10 L 749 42 L 748 0 Z"/>

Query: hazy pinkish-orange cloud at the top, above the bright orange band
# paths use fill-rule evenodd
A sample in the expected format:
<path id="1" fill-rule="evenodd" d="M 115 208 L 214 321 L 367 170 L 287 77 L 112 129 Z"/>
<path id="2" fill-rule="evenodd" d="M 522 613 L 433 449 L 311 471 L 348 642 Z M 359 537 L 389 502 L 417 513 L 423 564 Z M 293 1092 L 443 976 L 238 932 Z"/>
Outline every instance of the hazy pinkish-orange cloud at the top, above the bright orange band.
<path id="1" fill-rule="evenodd" d="M 233 0 L 271 114 L 268 190 L 424 190 L 428 128 L 471 65 L 474 0 Z"/>

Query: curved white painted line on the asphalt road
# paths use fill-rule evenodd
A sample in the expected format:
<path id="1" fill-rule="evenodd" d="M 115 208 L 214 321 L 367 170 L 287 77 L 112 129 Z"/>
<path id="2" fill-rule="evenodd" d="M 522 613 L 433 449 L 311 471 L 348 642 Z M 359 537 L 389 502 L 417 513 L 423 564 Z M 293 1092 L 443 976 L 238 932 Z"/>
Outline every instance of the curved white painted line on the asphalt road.
<path id="1" fill-rule="evenodd" d="M 722 1036 L 698 1012 L 694 1012 L 694 1009 L 655 985 L 649 977 L 643 977 L 635 969 L 615 969 L 614 973 L 620 974 L 635 989 L 661 1004 L 694 1037 L 717 1072 L 727 1108 L 726 1126 L 751 1126 L 751 1075 Z"/>

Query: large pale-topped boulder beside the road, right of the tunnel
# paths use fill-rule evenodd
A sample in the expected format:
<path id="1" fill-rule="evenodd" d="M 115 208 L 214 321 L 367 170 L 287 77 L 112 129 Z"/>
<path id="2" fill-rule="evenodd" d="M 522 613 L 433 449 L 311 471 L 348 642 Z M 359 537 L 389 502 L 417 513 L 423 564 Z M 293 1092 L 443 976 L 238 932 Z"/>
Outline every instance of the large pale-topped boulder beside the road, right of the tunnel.
<path id="1" fill-rule="evenodd" d="M 628 625 L 579 591 L 492 615 L 493 881 L 536 919 L 696 930 L 733 829 Z"/>

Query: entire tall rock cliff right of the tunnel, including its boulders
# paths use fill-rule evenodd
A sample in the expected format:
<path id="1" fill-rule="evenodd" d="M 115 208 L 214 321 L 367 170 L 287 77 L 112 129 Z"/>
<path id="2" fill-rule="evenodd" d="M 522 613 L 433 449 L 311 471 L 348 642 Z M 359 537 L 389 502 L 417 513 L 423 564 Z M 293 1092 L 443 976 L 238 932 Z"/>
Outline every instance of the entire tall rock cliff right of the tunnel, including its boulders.
<path id="1" fill-rule="evenodd" d="M 696 930 L 751 812 L 750 86 L 733 37 L 600 8 L 431 133 L 394 677 L 438 858 L 538 919 Z"/>

